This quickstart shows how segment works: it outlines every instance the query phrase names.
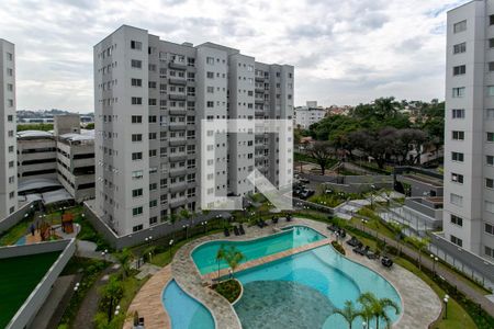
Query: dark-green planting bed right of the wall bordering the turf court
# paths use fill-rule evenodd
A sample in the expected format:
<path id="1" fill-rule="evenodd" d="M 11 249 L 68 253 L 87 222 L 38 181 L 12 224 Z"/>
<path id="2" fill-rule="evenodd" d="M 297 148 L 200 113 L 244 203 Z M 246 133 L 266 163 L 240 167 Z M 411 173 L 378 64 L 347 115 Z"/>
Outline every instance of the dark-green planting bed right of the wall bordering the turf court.
<path id="1" fill-rule="evenodd" d="M 82 277 L 79 282 L 79 290 L 70 298 L 70 303 L 64 311 L 64 316 L 58 326 L 59 329 L 71 328 L 86 294 L 108 265 L 104 261 L 89 258 L 72 257 L 70 259 L 60 275 L 80 273 Z"/>

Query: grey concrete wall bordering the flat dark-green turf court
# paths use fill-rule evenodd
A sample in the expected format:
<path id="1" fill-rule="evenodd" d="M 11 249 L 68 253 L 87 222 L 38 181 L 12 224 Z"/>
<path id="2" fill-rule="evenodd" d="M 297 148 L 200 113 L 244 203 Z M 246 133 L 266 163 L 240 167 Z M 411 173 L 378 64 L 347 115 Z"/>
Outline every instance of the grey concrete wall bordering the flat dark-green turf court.
<path id="1" fill-rule="evenodd" d="M 48 272 L 46 272 L 45 276 L 27 297 L 26 302 L 21 306 L 21 308 L 11 319 L 9 325 L 7 325 L 7 329 L 30 328 L 31 321 L 36 316 L 43 303 L 45 303 L 53 284 L 76 251 L 76 240 L 60 240 L 53 242 L 41 242 L 26 246 L 0 248 L 0 259 L 52 251 L 61 251 L 61 253 L 60 256 L 58 256 L 58 259 L 54 262 Z"/>

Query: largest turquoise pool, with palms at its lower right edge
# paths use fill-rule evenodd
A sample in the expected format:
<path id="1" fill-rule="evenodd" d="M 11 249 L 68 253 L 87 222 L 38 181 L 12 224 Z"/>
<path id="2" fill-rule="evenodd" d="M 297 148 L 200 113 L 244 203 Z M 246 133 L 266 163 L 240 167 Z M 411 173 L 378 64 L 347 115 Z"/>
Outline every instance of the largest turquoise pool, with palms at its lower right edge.
<path id="1" fill-rule="evenodd" d="M 235 304 L 243 328 L 348 328 L 335 307 L 346 300 L 357 304 L 361 293 L 379 298 L 401 299 L 381 275 L 355 263 L 332 247 L 324 246 L 278 261 L 238 272 L 244 295 Z M 398 318 L 389 311 L 392 321 Z M 362 328 L 357 318 L 352 328 Z M 383 321 L 380 325 L 384 328 Z M 373 326 L 373 324 L 372 324 Z"/>

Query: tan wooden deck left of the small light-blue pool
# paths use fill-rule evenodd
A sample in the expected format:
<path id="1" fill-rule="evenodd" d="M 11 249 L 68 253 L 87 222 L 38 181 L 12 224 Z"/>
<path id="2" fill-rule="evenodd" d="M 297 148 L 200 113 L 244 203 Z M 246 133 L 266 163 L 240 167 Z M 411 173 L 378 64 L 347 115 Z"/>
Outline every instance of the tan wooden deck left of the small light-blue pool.
<path id="1" fill-rule="evenodd" d="M 124 329 L 132 329 L 135 310 L 137 310 L 139 318 L 144 318 L 146 329 L 171 328 L 170 318 L 165 311 L 161 302 L 162 290 L 170 280 L 171 266 L 168 265 L 158 271 L 144 284 L 128 307 L 131 316 L 125 321 Z"/>

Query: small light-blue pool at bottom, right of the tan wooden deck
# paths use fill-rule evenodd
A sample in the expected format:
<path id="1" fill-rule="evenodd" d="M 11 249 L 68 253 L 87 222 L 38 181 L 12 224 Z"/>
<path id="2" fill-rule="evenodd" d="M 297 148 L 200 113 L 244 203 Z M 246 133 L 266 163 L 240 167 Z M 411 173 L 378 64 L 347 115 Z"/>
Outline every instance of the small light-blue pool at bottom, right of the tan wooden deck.
<path id="1" fill-rule="evenodd" d="M 186 294 L 175 280 L 162 292 L 162 303 L 171 319 L 171 329 L 214 329 L 211 313 Z"/>

